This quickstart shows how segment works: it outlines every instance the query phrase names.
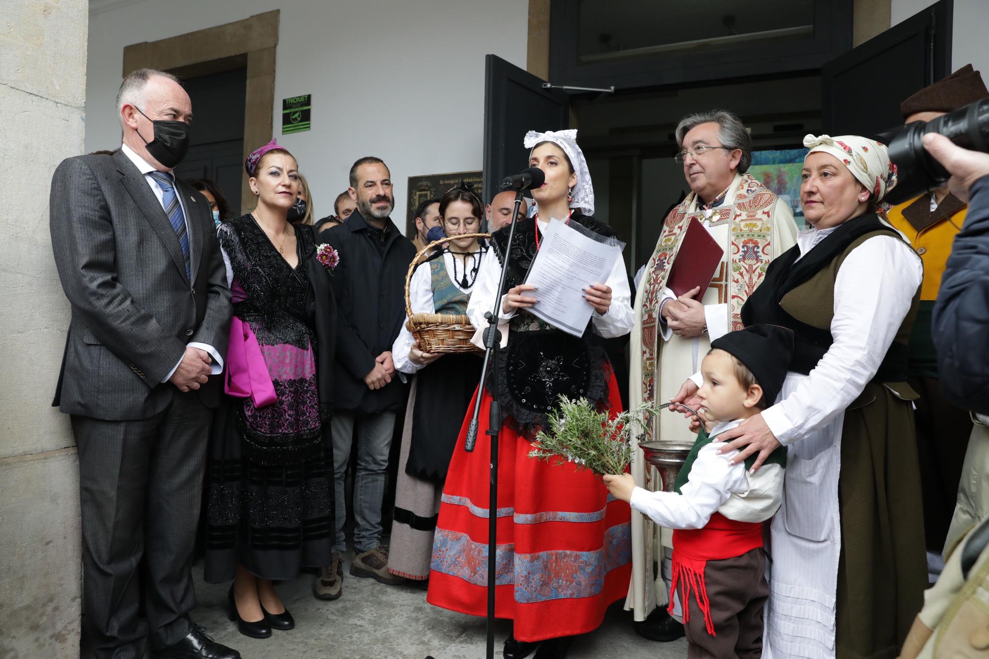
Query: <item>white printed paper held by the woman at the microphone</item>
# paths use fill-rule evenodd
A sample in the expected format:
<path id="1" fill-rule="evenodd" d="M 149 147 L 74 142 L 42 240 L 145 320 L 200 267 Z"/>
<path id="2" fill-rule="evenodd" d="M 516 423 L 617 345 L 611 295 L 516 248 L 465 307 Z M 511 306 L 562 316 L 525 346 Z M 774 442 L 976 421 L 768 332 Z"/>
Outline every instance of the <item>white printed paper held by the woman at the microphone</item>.
<path id="1" fill-rule="evenodd" d="M 598 242 L 562 222 L 550 222 L 525 279 L 536 291 L 523 295 L 539 300 L 529 313 L 567 333 L 583 335 L 594 310 L 581 289 L 607 281 L 620 257 L 617 245 Z"/>

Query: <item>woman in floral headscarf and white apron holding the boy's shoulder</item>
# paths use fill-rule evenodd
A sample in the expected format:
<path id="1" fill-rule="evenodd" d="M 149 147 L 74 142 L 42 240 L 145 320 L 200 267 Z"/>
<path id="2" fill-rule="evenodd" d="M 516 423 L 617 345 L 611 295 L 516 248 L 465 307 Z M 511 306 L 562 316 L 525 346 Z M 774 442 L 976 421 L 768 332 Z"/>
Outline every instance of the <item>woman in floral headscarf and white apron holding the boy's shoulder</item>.
<path id="1" fill-rule="evenodd" d="M 917 394 L 906 383 L 923 268 L 885 222 L 896 182 L 886 146 L 810 135 L 804 145 L 800 203 L 812 228 L 742 309 L 747 326 L 793 330 L 791 370 L 776 404 L 724 433 L 722 450 L 741 449 L 733 462 L 758 452 L 758 469 L 788 449 L 771 524 L 771 656 L 892 658 L 927 576 Z"/>

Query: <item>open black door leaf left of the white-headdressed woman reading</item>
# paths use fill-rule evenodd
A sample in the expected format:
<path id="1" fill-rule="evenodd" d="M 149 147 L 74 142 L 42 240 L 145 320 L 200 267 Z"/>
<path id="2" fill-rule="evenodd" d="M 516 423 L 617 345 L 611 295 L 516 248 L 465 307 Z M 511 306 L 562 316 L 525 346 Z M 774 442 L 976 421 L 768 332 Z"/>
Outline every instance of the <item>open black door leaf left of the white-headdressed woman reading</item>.
<path id="1" fill-rule="evenodd" d="M 485 58 L 485 160 L 487 199 L 505 176 L 528 166 L 522 145 L 528 131 L 559 131 L 570 126 L 570 97 L 544 89 L 543 80 L 493 54 Z"/>

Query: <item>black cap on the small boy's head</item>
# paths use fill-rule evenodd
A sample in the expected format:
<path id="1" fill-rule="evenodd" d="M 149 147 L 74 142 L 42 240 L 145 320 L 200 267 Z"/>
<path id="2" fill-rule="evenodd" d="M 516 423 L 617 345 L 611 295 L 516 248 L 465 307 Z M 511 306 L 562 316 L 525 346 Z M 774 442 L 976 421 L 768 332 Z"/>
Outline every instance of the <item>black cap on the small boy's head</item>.
<path id="1" fill-rule="evenodd" d="M 753 325 L 719 336 L 711 341 L 711 347 L 724 350 L 745 364 L 763 388 L 766 404 L 776 402 L 793 358 L 791 329 Z"/>

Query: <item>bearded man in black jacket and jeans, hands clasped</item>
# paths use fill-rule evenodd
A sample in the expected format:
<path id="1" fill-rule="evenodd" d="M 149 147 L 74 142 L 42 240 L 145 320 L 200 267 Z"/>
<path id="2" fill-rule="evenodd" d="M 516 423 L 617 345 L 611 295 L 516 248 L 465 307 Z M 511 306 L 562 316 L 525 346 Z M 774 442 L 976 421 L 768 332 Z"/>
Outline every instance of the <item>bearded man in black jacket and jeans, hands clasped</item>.
<path id="1" fill-rule="evenodd" d="M 319 235 L 320 242 L 329 243 L 340 255 L 330 277 L 339 305 L 331 422 L 336 540 L 333 561 L 322 568 L 313 586 L 321 600 L 335 600 L 341 594 L 346 550 L 344 472 L 355 444 L 350 574 L 382 584 L 405 581 L 388 571 L 388 551 L 381 546 L 381 509 L 396 412 L 405 400 L 391 350 L 405 321 L 405 273 L 415 247 L 389 217 L 395 197 L 391 172 L 381 158 L 363 157 L 353 164 L 348 192 L 357 210 L 344 224 Z"/>

